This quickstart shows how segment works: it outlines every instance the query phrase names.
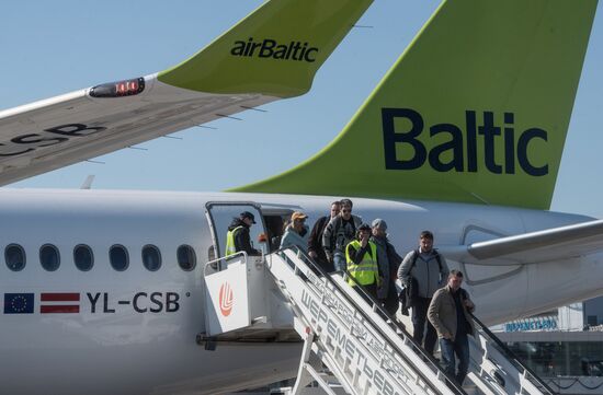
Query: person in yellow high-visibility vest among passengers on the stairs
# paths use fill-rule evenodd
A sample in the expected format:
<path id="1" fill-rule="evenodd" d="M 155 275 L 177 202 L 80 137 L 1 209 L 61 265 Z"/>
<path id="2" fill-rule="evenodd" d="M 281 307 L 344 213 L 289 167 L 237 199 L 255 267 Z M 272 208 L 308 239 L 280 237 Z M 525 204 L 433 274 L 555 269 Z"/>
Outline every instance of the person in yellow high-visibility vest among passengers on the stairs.
<path id="1" fill-rule="evenodd" d="M 345 246 L 345 263 L 350 277 L 348 283 L 355 287 L 356 282 L 371 294 L 377 298 L 377 287 L 379 286 L 379 267 L 377 265 L 377 246 L 371 242 L 371 226 L 363 223 L 359 226 L 356 240 Z M 363 298 L 364 294 L 361 293 Z M 368 298 L 365 298 L 369 302 Z"/>

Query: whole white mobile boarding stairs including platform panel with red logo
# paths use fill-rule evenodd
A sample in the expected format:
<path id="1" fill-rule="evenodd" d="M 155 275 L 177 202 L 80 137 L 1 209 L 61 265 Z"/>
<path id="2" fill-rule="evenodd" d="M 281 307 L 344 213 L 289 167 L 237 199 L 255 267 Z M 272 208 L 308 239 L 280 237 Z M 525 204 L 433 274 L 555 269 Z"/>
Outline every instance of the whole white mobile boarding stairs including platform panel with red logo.
<path id="1" fill-rule="evenodd" d="M 302 337 L 292 394 L 311 382 L 330 395 L 554 394 L 475 317 L 469 372 L 458 386 L 403 325 L 344 277 L 325 272 L 297 248 L 207 263 L 206 328 L 197 342 L 213 349 L 220 341 Z"/>

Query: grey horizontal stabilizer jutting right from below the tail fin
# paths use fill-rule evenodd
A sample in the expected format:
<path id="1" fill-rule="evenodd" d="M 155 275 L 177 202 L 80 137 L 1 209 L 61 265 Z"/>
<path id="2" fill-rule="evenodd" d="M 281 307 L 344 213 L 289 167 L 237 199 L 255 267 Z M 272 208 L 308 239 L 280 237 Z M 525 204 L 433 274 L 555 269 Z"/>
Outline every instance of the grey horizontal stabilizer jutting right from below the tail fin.
<path id="1" fill-rule="evenodd" d="M 439 246 L 447 258 L 475 265 L 538 264 L 603 249 L 603 220 L 459 246 Z"/>

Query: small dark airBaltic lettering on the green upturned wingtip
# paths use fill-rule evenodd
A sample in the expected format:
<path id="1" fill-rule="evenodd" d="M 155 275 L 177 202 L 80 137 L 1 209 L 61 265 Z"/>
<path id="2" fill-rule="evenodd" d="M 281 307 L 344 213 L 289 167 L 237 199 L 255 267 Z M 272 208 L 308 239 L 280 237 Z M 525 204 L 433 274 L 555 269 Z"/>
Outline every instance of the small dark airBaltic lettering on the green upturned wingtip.
<path id="1" fill-rule="evenodd" d="M 247 42 L 235 42 L 235 46 L 230 49 L 234 56 L 243 56 L 252 58 L 272 58 L 280 60 L 297 60 L 297 61 L 316 61 L 318 48 L 311 47 L 308 43 L 289 42 L 287 44 L 278 44 L 275 39 L 264 38 L 261 42 L 254 42 L 253 37 L 249 37 Z"/>

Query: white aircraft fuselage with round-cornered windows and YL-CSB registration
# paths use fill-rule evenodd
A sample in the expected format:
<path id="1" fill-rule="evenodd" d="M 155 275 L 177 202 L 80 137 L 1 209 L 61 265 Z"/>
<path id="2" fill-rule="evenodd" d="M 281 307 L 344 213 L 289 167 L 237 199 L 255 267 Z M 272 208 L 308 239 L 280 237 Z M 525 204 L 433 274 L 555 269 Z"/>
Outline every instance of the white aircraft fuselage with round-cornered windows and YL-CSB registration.
<path id="1" fill-rule="evenodd" d="M 227 193 L 0 190 L 0 246 L 16 244 L 26 255 L 20 271 L 0 265 L 0 393 L 209 394 L 294 375 L 299 344 L 228 344 L 216 351 L 196 345 L 196 335 L 205 330 L 203 270 L 213 258 L 208 252 L 214 244 L 206 204 L 254 202 L 262 212 L 273 213 L 303 210 L 311 226 L 327 214 L 332 200 Z M 425 229 L 434 232 L 435 246 L 459 245 L 589 220 L 514 208 L 362 198 L 354 199 L 354 212 L 366 222 L 385 219 L 400 255 L 416 247 Z M 60 253 L 55 271 L 39 263 L 39 248 L 46 244 Z M 79 244 L 94 254 L 89 271 L 73 264 Z M 141 248 L 149 244 L 161 254 L 157 271 L 143 265 Z M 113 245 L 127 249 L 129 265 L 124 271 L 110 265 Z M 181 245 L 195 252 L 191 271 L 178 264 Z M 493 324 L 600 293 L 601 259 L 591 255 L 497 267 L 448 259 L 448 266 L 466 274 L 477 316 Z M 14 306 L 7 306 L 7 294 L 31 293 L 31 312 L 15 314 Z M 43 293 L 79 293 L 79 301 L 71 303 L 78 312 L 42 313 L 42 304 L 53 304 L 42 301 Z"/>

